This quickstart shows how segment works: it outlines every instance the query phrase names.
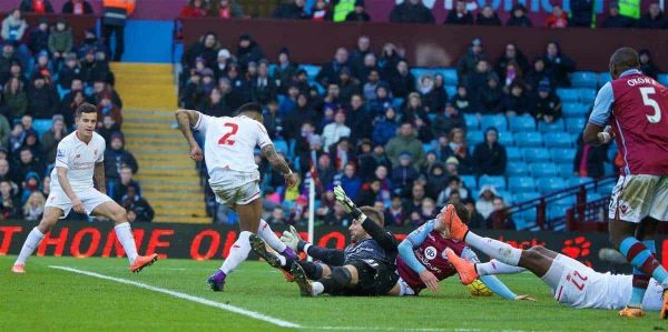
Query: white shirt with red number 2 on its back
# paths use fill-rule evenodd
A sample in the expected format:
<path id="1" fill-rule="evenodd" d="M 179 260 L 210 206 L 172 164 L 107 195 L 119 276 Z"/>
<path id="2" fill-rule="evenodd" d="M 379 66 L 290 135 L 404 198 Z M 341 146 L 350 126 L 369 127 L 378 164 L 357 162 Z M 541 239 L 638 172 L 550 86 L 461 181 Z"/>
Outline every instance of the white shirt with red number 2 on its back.
<path id="1" fill-rule="evenodd" d="M 209 174 L 216 169 L 253 173 L 255 147 L 273 144 L 264 124 L 248 117 L 209 117 L 199 113 L 194 127 L 205 135 L 204 159 Z"/>

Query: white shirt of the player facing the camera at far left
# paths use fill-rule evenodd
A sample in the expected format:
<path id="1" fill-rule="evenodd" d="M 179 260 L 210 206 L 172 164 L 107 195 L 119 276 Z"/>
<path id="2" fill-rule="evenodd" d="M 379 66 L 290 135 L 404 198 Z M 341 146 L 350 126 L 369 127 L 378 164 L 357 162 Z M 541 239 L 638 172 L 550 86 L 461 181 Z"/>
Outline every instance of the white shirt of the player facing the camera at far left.
<path id="1" fill-rule="evenodd" d="M 65 137 L 58 143 L 56 167 L 51 171 L 51 189 L 62 190 L 58 182 L 57 168 L 67 169 L 67 179 L 75 192 L 94 188 L 92 173 L 95 164 L 105 161 L 105 139 L 97 132 L 90 142 L 85 143 L 77 131 Z"/>

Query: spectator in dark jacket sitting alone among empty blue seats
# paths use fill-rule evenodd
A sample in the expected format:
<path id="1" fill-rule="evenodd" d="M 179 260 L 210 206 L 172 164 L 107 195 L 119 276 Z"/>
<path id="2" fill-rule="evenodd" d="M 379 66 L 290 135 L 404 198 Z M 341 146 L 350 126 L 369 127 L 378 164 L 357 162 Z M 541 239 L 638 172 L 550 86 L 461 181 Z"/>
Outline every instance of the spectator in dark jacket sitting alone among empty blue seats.
<path id="1" fill-rule="evenodd" d="M 473 172 L 477 175 L 503 175 L 508 157 L 505 147 L 499 143 L 499 131 L 497 128 L 488 128 L 484 133 L 484 142 L 475 145 L 473 150 Z M 484 214 L 484 213 L 483 213 Z"/>

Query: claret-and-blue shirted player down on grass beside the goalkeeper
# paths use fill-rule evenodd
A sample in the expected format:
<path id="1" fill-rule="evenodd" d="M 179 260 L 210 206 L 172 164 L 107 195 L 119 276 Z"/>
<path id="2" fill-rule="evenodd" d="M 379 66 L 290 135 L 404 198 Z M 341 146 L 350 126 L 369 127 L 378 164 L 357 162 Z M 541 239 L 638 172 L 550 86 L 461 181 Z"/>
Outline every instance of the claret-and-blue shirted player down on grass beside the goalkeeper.
<path id="1" fill-rule="evenodd" d="M 475 253 L 464 242 L 445 238 L 445 225 L 441 222 L 442 215 L 453 209 L 463 222 L 469 221 L 469 210 L 459 204 L 449 204 L 436 219 L 428 221 L 419 229 L 411 232 L 399 244 L 396 258 L 396 272 L 400 276 L 402 295 L 418 294 L 423 289 L 439 291 L 439 281 L 456 274 L 456 270 L 445 256 L 445 249 L 453 250 L 458 255 L 477 263 Z M 492 292 L 507 300 L 533 300 L 528 295 L 517 295 L 493 275 L 480 278 Z"/>

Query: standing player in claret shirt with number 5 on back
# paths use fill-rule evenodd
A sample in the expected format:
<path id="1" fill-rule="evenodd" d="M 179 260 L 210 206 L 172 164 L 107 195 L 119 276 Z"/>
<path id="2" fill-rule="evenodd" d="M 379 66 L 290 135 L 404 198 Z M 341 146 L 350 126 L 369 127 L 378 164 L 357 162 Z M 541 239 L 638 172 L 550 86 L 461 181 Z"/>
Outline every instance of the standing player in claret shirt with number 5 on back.
<path id="1" fill-rule="evenodd" d="M 655 258 L 654 241 L 657 222 L 668 221 L 668 89 L 639 67 L 633 49 L 612 54 L 612 81 L 598 92 L 583 133 L 591 145 L 615 137 L 623 157 L 609 207 L 610 240 L 633 265 L 631 301 L 621 316 L 644 315 L 640 304 L 650 276 L 668 289 L 668 272 Z M 666 294 L 662 319 L 668 318 Z"/>

